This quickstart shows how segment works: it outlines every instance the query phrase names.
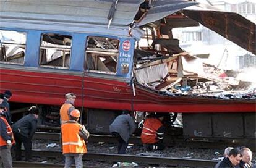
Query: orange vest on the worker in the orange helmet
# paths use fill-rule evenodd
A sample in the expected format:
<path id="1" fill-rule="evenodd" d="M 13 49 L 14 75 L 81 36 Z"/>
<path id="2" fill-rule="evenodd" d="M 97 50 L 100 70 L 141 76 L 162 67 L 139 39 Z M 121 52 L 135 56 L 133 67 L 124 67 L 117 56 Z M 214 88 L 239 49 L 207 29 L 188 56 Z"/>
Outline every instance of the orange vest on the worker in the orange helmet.
<path id="1" fill-rule="evenodd" d="M 62 153 L 87 153 L 85 141 L 79 136 L 82 127 L 77 122 L 66 122 L 61 125 Z"/>

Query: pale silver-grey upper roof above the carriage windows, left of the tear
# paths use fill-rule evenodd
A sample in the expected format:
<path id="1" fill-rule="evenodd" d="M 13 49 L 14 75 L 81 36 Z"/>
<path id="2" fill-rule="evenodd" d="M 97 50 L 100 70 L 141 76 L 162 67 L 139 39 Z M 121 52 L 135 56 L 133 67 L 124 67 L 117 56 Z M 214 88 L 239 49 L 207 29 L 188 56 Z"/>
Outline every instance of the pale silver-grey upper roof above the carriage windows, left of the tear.
<path id="1" fill-rule="evenodd" d="M 108 25 L 112 0 L 0 0 L 0 18 Z M 111 25 L 133 22 L 143 0 L 119 0 Z"/>

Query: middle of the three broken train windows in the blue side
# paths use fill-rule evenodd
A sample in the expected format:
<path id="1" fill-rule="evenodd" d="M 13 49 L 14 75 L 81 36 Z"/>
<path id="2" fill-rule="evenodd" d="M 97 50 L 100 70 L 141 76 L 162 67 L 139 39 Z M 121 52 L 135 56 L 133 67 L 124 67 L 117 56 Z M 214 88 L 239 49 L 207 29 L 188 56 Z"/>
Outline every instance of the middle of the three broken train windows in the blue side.
<path id="1" fill-rule="evenodd" d="M 43 42 L 43 38 L 44 35 L 48 35 L 48 37 L 51 39 L 50 36 L 68 36 L 70 39 L 70 45 L 66 45 L 66 44 L 52 44 L 52 43 L 48 43 L 47 41 L 45 41 L 45 44 L 42 44 Z M 66 38 L 68 39 L 68 38 Z M 46 33 L 41 33 L 41 38 L 40 38 L 40 48 L 39 48 L 39 66 L 40 67 L 47 67 L 47 68 L 53 68 L 53 69 L 69 69 L 70 68 L 70 61 L 71 61 L 71 55 L 72 55 L 72 35 L 67 35 L 65 33 L 51 33 L 51 32 L 46 32 Z M 62 40 L 65 41 L 65 40 Z M 48 43 L 48 44 L 46 44 Z M 48 56 L 46 55 L 45 57 L 42 57 L 42 50 L 41 49 L 54 49 L 56 50 L 56 52 L 54 52 L 51 55 L 51 59 L 48 58 Z M 67 54 L 69 53 L 69 58 L 66 60 L 66 51 Z M 61 56 L 57 56 L 56 58 L 53 59 L 53 55 L 56 54 L 57 52 L 61 52 Z M 61 63 L 58 65 L 50 65 L 52 61 L 61 58 Z M 46 59 L 46 60 L 45 60 Z M 47 60 L 49 59 L 49 60 Z M 46 61 L 46 62 L 43 62 Z M 47 63 L 47 64 L 46 64 Z M 57 62 L 58 63 L 58 62 Z"/>

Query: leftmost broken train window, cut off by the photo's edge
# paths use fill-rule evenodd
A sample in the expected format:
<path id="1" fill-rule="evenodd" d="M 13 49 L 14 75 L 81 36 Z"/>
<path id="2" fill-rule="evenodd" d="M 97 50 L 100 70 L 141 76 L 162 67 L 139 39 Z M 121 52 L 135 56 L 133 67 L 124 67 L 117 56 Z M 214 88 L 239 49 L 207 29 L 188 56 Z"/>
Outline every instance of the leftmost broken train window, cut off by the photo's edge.
<path id="1" fill-rule="evenodd" d="M 17 43 L 17 41 L 14 40 L 15 39 L 14 37 L 12 37 L 12 38 L 9 37 L 9 40 L 1 40 L 4 38 L 8 38 L 7 37 L 8 35 L 4 36 L 1 33 L 1 31 L 6 31 L 6 34 L 11 33 L 11 35 L 13 35 L 14 33 L 18 33 L 20 36 L 18 36 L 17 38 L 19 38 L 20 43 Z M 17 31 L 17 30 L 2 30 L 1 29 L 0 36 L 1 36 L 0 37 L 0 62 L 3 64 L 24 65 L 26 51 L 27 51 L 27 32 Z M 16 38 L 16 40 L 17 40 L 17 38 Z M 8 51 L 8 49 L 6 49 L 6 46 L 9 46 L 8 49 L 10 48 L 10 46 L 13 47 L 12 50 L 9 52 L 9 54 L 12 52 L 14 52 L 14 53 L 17 52 L 17 53 L 12 54 L 11 56 L 6 56 L 6 52 Z M 18 52 L 18 49 L 15 49 L 17 47 L 19 47 L 18 48 L 19 52 Z M 15 51 L 13 51 L 14 49 L 15 49 Z M 21 55 L 21 54 L 23 54 L 23 55 Z M 8 57 L 11 58 L 9 61 L 7 60 Z M 21 58 L 21 61 L 20 61 L 20 58 Z M 18 62 L 12 62 L 12 61 L 18 61 Z"/>

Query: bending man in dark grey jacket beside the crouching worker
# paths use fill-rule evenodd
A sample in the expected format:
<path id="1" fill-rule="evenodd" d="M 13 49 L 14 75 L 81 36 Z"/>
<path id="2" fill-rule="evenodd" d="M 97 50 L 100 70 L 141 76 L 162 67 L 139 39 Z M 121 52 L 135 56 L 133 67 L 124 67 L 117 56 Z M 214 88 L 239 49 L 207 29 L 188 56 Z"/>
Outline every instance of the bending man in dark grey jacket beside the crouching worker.
<path id="1" fill-rule="evenodd" d="M 129 136 L 134 133 L 136 125 L 129 111 L 123 111 L 109 126 L 109 132 L 118 138 L 118 153 L 125 154 Z"/>

